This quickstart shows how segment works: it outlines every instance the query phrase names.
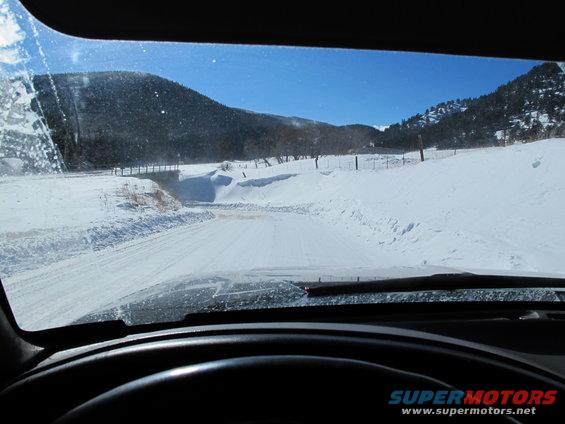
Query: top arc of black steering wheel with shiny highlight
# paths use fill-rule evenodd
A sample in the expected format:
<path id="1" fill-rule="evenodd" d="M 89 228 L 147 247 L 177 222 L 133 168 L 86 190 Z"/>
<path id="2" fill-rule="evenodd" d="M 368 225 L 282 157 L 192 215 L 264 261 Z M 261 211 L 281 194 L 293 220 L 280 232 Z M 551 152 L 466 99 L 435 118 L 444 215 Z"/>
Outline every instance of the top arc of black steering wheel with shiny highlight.
<path id="1" fill-rule="evenodd" d="M 414 422 L 388 405 L 392 390 L 452 389 L 370 362 L 322 356 L 251 356 L 188 365 L 105 392 L 56 423 Z M 411 420 L 409 418 L 412 418 Z"/>

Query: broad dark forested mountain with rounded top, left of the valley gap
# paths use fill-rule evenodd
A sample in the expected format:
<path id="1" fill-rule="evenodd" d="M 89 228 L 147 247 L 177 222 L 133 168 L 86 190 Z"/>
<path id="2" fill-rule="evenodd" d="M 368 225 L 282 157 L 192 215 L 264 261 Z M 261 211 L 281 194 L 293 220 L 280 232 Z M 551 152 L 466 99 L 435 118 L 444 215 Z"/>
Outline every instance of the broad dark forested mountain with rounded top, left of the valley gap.
<path id="1" fill-rule="evenodd" d="M 380 134 L 230 108 L 138 72 L 42 75 L 34 85 L 71 168 L 345 153 Z"/>

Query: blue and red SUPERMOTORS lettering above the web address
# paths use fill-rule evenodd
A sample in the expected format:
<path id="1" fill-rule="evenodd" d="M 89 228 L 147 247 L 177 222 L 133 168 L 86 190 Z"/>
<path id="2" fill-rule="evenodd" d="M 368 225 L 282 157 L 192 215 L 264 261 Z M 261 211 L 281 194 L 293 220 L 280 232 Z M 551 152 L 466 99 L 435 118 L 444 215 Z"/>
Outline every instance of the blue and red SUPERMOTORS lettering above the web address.
<path id="1" fill-rule="evenodd" d="M 395 390 L 389 405 L 553 405 L 557 390 Z"/>

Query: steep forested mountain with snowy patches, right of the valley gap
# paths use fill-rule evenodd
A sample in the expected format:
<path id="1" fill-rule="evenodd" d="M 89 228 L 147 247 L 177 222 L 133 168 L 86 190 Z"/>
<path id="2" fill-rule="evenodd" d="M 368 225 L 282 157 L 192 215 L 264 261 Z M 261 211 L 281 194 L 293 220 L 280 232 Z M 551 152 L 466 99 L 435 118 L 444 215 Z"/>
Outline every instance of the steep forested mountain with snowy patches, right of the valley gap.
<path id="1" fill-rule="evenodd" d="M 384 131 L 387 147 L 476 147 L 565 135 L 565 73 L 553 62 L 532 68 L 493 93 L 428 109 Z"/>

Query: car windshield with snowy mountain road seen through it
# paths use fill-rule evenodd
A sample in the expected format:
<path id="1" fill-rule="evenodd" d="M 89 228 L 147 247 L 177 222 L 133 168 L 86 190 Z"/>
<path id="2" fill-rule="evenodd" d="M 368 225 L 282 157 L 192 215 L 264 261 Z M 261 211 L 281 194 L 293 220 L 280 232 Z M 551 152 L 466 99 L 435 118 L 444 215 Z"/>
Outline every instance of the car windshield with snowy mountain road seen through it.
<path id="1" fill-rule="evenodd" d="M 564 69 L 84 40 L 0 0 L 0 278 L 16 320 L 307 305 L 304 281 L 563 277 Z"/>

